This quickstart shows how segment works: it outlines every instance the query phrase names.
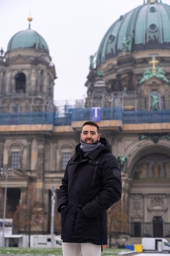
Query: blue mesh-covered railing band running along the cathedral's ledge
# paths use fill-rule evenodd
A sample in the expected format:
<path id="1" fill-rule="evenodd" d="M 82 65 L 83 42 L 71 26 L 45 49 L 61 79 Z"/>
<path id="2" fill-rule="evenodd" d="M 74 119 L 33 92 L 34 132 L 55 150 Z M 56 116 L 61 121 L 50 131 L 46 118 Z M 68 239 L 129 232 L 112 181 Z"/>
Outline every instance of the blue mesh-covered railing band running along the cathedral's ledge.
<path id="1" fill-rule="evenodd" d="M 66 107 L 63 112 L 0 112 L 0 125 L 71 125 L 72 121 L 91 120 L 91 108 Z M 121 120 L 122 124 L 170 123 L 170 110 L 123 110 L 120 106 L 101 108 L 101 120 Z"/>

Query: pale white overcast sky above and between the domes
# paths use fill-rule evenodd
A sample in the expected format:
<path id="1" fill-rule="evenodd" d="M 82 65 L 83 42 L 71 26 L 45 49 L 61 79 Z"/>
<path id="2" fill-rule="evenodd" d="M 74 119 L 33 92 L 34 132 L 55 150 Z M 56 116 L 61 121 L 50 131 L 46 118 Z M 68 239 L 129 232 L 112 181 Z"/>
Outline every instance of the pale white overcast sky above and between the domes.
<path id="1" fill-rule="evenodd" d="M 28 28 L 31 14 L 31 29 L 46 40 L 55 64 L 54 100 L 84 99 L 89 56 L 116 20 L 141 4 L 144 0 L 1 0 L 0 48 L 6 52 L 11 37 Z"/>

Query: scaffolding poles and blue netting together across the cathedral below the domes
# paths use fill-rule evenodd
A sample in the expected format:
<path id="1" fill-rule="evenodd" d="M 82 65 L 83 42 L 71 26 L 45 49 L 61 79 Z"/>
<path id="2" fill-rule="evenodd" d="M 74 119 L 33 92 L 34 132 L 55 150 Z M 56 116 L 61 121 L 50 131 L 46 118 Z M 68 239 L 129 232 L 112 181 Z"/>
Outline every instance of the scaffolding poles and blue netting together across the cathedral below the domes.
<path id="1" fill-rule="evenodd" d="M 101 120 L 121 120 L 122 124 L 170 123 L 170 106 L 160 99 L 157 110 L 149 99 L 136 92 L 113 92 L 110 97 L 97 95 L 87 100 L 51 101 L 44 95 L 7 95 L 0 98 L 0 125 L 51 124 L 71 125 L 73 121 L 91 120 L 91 107 L 101 108 Z M 169 95 L 166 95 L 169 98 Z M 100 102 L 99 102 L 100 100 Z"/>

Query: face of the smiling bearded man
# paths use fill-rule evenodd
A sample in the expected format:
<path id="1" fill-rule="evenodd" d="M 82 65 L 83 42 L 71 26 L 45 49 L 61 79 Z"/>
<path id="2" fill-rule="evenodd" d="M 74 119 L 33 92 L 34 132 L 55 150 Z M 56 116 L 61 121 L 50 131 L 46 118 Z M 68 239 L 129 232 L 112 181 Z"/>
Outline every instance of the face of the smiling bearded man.
<path id="1" fill-rule="evenodd" d="M 97 133 L 97 127 L 92 125 L 85 125 L 82 128 L 80 139 L 84 143 L 97 144 L 97 141 L 100 139 L 100 134 Z"/>

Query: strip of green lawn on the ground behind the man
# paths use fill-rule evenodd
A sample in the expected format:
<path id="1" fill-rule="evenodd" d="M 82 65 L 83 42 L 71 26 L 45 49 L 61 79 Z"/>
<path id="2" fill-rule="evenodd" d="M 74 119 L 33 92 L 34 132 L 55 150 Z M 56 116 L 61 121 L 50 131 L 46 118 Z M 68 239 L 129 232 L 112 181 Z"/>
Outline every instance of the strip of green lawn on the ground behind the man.
<path id="1" fill-rule="evenodd" d="M 119 252 L 128 252 L 128 249 L 103 249 L 101 256 L 116 256 Z M 0 247 L 0 255 L 41 255 L 41 256 L 62 256 L 62 248 L 23 248 L 23 247 Z"/>

